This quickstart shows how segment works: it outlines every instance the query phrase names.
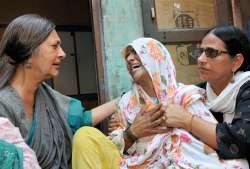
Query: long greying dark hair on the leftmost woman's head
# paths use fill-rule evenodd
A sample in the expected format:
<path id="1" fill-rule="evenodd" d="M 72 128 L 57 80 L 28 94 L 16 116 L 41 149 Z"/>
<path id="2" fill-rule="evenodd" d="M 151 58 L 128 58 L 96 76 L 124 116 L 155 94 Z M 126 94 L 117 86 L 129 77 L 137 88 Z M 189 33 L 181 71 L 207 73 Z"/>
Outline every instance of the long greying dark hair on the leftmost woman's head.
<path id="1" fill-rule="evenodd" d="M 0 42 L 0 57 L 10 64 L 24 63 L 55 29 L 55 24 L 36 14 L 15 18 L 5 29 Z"/>

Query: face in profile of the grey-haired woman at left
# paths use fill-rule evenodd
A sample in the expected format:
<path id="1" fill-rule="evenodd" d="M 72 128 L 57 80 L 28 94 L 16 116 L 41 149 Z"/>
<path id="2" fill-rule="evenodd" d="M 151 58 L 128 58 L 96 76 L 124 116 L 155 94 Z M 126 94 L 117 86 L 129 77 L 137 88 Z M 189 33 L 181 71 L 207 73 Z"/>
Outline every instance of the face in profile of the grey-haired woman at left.
<path id="1" fill-rule="evenodd" d="M 47 39 L 34 51 L 30 61 L 32 71 L 41 78 L 48 79 L 58 75 L 65 53 L 61 48 L 61 40 L 54 30 Z"/>

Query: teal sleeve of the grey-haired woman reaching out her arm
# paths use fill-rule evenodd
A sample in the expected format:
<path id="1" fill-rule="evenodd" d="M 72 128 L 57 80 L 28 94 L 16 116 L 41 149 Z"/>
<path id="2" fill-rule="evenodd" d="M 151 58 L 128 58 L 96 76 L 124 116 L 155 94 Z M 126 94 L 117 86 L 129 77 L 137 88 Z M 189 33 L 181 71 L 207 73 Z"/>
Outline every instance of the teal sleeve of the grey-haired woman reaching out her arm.
<path id="1" fill-rule="evenodd" d="M 92 126 L 92 112 L 86 111 L 79 100 L 70 100 L 67 113 L 67 121 L 73 133 L 82 126 Z"/>

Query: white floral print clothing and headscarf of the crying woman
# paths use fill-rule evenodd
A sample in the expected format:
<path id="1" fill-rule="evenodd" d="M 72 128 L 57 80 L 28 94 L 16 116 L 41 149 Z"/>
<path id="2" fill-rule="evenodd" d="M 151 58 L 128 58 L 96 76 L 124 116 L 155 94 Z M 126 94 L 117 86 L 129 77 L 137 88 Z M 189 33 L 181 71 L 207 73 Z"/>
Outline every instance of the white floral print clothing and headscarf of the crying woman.
<path id="1" fill-rule="evenodd" d="M 217 123 L 203 104 L 204 90 L 193 85 L 177 84 L 175 67 L 167 49 L 151 38 L 139 38 L 132 46 L 143 66 L 148 71 L 158 102 L 167 106 L 169 102 L 183 105 L 188 111 Z M 127 48 L 124 53 L 126 54 Z M 121 128 L 111 133 L 112 141 L 121 152 L 124 149 L 122 132 L 131 124 L 144 105 L 152 106 L 154 101 L 141 86 L 133 84 L 132 89 L 120 99 Z M 220 160 L 216 152 L 183 129 L 172 129 L 137 140 L 123 155 L 120 168 L 248 168 L 246 160 Z"/>

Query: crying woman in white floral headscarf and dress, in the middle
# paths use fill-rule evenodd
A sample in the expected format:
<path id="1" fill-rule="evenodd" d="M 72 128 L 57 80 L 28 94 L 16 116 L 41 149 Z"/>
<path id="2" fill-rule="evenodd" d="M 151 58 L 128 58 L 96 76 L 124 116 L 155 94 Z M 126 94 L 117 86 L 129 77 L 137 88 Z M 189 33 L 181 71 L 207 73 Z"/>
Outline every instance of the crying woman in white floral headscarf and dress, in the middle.
<path id="1" fill-rule="evenodd" d="M 199 116 L 212 124 L 217 121 L 204 106 L 203 89 L 176 82 L 171 55 L 163 44 L 152 38 L 138 38 L 125 47 L 123 57 L 133 84 L 117 102 L 119 111 L 115 120 L 119 127 L 110 133 L 112 142 L 124 153 L 120 169 L 249 168 L 246 160 L 219 159 L 213 149 L 188 132 L 190 125 L 186 130 L 173 128 L 142 137 L 135 124 L 139 121 L 137 117 L 147 113 L 139 111 L 158 104 L 168 106 L 169 100 L 185 107 L 193 117 Z M 110 122 L 114 124 L 113 119 Z M 148 125 L 155 129 L 166 126 L 164 121 L 144 123 L 145 127 Z"/>

